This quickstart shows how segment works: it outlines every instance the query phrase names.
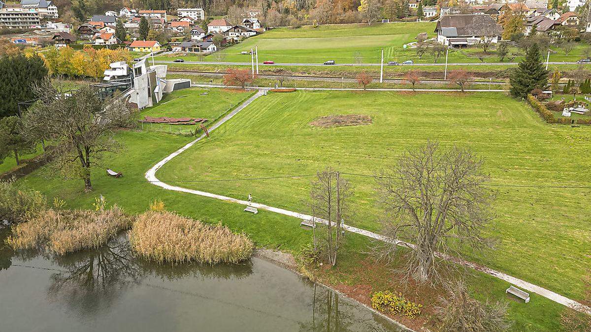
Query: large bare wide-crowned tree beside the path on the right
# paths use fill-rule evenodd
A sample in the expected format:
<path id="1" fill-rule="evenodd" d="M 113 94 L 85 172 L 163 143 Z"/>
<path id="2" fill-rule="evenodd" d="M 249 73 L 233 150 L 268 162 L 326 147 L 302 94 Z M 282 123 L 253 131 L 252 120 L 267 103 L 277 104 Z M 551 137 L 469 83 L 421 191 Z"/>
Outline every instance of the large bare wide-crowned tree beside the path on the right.
<path id="1" fill-rule="evenodd" d="M 393 259 L 401 246 L 404 272 L 420 282 L 441 280 L 440 264 L 460 249 L 490 246 L 482 230 L 493 218 L 492 194 L 483 161 L 468 149 L 440 149 L 427 142 L 409 150 L 389 170 L 376 176 L 385 208 L 385 235 L 401 242 L 385 242 L 379 258 Z M 410 250 L 408 250 L 410 249 Z"/>

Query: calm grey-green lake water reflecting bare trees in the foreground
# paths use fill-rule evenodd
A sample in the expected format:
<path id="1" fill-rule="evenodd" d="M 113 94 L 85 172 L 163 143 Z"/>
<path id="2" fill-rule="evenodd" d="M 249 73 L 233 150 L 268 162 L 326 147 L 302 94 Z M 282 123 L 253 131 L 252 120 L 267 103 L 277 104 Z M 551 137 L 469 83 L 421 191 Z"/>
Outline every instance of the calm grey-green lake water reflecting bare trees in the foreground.
<path id="1" fill-rule="evenodd" d="M 147 263 L 124 237 L 62 257 L 14 252 L 0 230 L 0 331 L 400 331 L 277 265 Z"/>

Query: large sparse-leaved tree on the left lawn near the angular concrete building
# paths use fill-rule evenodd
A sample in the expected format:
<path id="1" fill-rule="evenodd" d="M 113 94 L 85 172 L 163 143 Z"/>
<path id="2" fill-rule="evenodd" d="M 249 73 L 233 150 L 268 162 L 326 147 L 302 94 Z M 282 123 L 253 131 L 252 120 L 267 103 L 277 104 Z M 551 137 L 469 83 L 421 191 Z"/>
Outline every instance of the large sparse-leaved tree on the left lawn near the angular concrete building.
<path id="1" fill-rule="evenodd" d="M 81 178 L 85 191 L 92 191 L 90 170 L 103 154 L 121 148 L 113 131 L 130 125 L 131 112 L 123 100 L 102 98 L 89 85 L 65 93 L 46 80 L 35 90 L 41 99 L 25 115 L 25 131 L 53 142 L 54 167 L 67 177 Z"/>

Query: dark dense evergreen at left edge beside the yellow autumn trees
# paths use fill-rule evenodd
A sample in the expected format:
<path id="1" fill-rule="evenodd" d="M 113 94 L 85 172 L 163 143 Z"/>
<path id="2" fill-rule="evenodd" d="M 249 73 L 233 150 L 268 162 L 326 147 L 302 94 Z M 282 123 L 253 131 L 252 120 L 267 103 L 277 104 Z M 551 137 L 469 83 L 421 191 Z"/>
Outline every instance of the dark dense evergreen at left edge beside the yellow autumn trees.
<path id="1" fill-rule="evenodd" d="M 16 115 L 18 102 L 35 97 L 33 84 L 47 76 L 47 68 L 38 56 L 22 54 L 0 57 L 0 118 Z"/>

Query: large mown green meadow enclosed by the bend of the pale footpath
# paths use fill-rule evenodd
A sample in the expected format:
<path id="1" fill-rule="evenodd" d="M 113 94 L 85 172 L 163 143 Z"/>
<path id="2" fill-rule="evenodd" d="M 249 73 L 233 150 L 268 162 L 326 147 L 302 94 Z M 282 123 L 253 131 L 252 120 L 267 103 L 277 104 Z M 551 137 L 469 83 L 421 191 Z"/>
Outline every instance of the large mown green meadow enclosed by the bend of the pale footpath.
<path id="1" fill-rule="evenodd" d="M 309 124 L 347 114 L 369 115 L 373 123 L 328 129 Z M 580 276 L 591 262 L 591 128 L 547 125 L 524 103 L 498 93 L 272 93 L 157 176 L 235 198 L 251 193 L 257 202 L 305 211 L 309 175 L 330 166 L 356 174 L 347 175 L 355 188 L 347 222 L 379 231 L 371 175 L 427 139 L 472 148 L 491 174 L 498 217 L 488 233 L 498 237 L 498 250 L 466 253 L 469 258 L 579 298 Z M 286 176 L 293 177 L 228 181 Z"/>

